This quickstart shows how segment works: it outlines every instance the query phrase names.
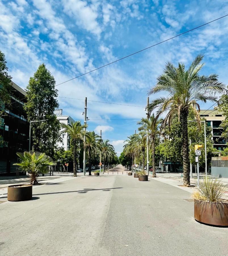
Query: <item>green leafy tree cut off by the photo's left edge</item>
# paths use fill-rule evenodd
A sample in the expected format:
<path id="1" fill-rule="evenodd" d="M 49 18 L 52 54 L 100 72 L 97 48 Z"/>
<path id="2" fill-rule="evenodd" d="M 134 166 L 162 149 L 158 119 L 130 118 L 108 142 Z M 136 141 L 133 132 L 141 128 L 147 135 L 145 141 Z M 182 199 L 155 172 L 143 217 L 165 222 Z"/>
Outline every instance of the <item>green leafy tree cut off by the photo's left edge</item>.
<path id="1" fill-rule="evenodd" d="M 0 51 L 0 114 L 3 114 L 5 104 L 10 104 L 10 92 L 12 90 L 12 77 L 8 75 L 5 54 Z M 1 106 L 2 105 L 2 106 Z"/>

